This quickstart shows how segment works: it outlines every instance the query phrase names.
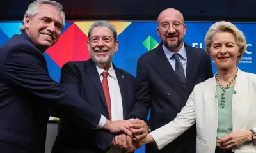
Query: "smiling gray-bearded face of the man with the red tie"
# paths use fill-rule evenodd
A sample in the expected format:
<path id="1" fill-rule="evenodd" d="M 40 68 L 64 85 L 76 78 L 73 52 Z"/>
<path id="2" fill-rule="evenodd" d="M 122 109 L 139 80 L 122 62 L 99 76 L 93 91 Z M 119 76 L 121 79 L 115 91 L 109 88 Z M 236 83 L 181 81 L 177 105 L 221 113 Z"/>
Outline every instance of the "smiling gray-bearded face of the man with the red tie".
<path id="1" fill-rule="evenodd" d="M 118 50 L 118 41 L 114 40 L 113 31 L 108 27 L 93 28 L 87 45 L 95 64 L 111 63 Z"/>

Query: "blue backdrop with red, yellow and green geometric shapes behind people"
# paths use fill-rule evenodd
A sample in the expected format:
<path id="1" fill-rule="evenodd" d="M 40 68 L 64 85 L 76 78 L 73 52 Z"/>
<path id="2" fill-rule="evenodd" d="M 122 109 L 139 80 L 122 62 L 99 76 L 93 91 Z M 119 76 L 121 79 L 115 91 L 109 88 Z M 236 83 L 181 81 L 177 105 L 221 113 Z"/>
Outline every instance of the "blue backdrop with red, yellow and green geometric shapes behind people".
<path id="1" fill-rule="evenodd" d="M 59 82 L 61 67 L 68 61 L 80 61 L 89 59 L 86 41 L 88 40 L 88 29 L 93 22 L 66 22 L 66 27 L 61 33 L 60 40 L 45 52 L 45 58 L 51 77 Z M 118 32 L 119 49 L 113 62 L 136 77 L 137 59 L 143 53 L 157 47 L 161 42 L 157 36 L 157 22 L 111 22 Z M 184 41 L 188 45 L 204 48 L 205 33 L 212 22 L 186 22 L 187 32 Z M 247 40 L 247 50 L 239 68 L 243 71 L 256 73 L 256 65 L 253 62 L 256 56 L 256 24 L 234 23 L 243 31 Z M 0 46 L 3 45 L 13 34 L 19 34 L 22 22 L 0 23 Z M 214 73 L 216 66 L 212 62 Z M 58 120 L 50 117 L 49 120 Z M 145 152 L 144 147 L 136 152 Z"/>

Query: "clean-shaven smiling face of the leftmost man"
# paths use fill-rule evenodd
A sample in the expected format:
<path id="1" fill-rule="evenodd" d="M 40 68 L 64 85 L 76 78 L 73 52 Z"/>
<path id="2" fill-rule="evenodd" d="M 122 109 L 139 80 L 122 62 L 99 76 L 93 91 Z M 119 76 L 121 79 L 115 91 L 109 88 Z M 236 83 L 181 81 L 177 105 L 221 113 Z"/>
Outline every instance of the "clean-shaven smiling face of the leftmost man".
<path id="1" fill-rule="evenodd" d="M 54 45 L 63 28 L 63 18 L 59 10 L 49 4 L 42 4 L 35 17 L 26 16 L 26 33 L 42 52 Z"/>

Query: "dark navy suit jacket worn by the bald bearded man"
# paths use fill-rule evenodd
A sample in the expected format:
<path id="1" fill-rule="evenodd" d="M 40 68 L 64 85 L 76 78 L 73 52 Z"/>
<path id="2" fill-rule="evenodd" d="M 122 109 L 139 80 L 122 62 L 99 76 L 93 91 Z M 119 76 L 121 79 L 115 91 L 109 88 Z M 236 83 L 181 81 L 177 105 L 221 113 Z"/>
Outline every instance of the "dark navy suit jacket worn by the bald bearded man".
<path id="1" fill-rule="evenodd" d="M 149 124 L 157 129 L 173 120 L 180 112 L 191 94 L 194 86 L 212 77 L 212 66 L 209 55 L 200 49 L 184 43 L 187 54 L 186 87 L 184 88 L 164 54 L 163 43 L 138 59 L 136 103 L 129 118 L 145 119 L 151 108 Z M 148 144 L 147 152 L 195 152 L 196 128 L 193 126 L 187 133 L 175 141 L 157 149 Z"/>

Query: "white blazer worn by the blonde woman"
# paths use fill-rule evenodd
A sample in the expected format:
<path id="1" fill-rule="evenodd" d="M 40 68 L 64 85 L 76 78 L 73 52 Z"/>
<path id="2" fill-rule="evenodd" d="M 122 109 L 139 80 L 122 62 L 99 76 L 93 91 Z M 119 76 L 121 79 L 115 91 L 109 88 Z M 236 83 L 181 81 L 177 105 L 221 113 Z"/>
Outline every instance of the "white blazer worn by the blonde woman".
<path id="1" fill-rule="evenodd" d="M 256 75 L 239 69 L 232 98 L 233 132 L 256 130 Z M 218 128 L 218 99 L 216 98 L 216 81 L 210 78 L 195 89 L 189 96 L 186 106 L 182 108 L 173 122 L 152 131 L 159 149 L 186 131 L 196 122 L 196 153 L 215 152 Z M 236 152 L 250 152 L 256 147 L 252 142 L 245 143 Z M 251 151 L 253 152 L 253 151 Z"/>

